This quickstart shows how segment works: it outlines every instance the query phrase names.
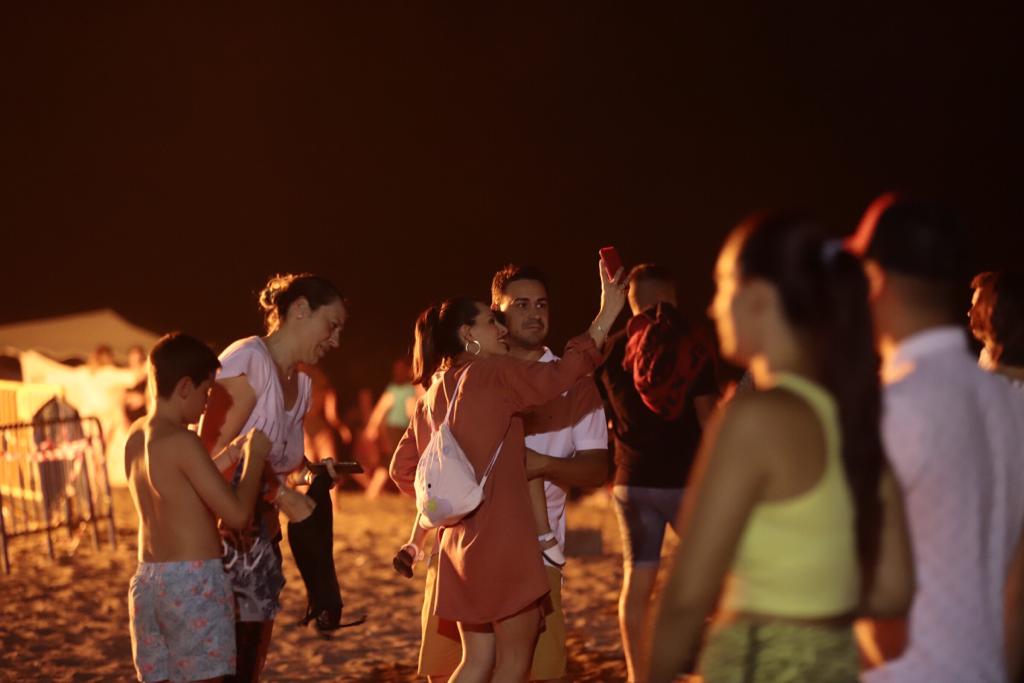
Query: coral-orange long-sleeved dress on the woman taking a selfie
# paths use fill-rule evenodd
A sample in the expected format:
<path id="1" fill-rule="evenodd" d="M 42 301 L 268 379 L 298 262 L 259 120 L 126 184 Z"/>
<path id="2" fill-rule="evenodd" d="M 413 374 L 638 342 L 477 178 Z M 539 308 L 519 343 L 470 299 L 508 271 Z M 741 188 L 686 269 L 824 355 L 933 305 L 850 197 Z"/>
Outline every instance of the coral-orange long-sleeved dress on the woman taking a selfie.
<path id="1" fill-rule="evenodd" d="M 572 339 L 561 360 L 529 362 L 492 356 L 456 365 L 434 377 L 395 450 L 391 477 L 415 495 L 420 454 L 431 426 L 444 419 L 480 478 L 498 444 L 504 446 L 480 507 L 441 532 L 435 613 L 465 624 L 490 624 L 512 616 L 550 590 L 541 560 L 526 487 L 526 450 L 520 413 L 567 391 L 601 360 L 593 340 Z M 459 395 L 452 396 L 465 373 Z M 429 417 L 428 417 L 429 416 Z"/>

